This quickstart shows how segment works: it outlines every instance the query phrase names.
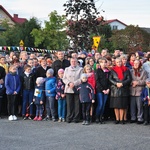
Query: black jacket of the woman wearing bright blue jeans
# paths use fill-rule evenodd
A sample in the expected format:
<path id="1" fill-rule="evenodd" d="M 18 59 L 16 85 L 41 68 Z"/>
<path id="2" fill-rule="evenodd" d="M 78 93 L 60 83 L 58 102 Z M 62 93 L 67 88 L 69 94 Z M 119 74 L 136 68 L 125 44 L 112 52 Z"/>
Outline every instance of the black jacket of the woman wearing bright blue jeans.
<path id="1" fill-rule="evenodd" d="M 110 72 L 104 72 L 102 69 L 96 70 L 96 92 L 101 93 L 103 90 L 110 89 L 109 82 Z"/>

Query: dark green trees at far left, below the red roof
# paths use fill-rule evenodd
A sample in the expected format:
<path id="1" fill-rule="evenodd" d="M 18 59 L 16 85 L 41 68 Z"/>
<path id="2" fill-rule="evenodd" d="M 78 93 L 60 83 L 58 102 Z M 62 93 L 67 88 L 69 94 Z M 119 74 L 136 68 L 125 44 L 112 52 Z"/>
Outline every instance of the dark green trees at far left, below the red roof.
<path id="1" fill-rule="evenodd" d="M 14 26 L 9 26 L 7 22 L 3 22 L 2 26 L 6 29 L 1 34 L 3 43 L 0 42 L 0 44 L 2 46 L 19 46 L 20 40 L 23 40 L 25 46 L 34 47 L 34 38 L 30 33 L 33 29 L 41 28 L 36 18 L 31 18 L 23 24 L 16 24 Z"/>

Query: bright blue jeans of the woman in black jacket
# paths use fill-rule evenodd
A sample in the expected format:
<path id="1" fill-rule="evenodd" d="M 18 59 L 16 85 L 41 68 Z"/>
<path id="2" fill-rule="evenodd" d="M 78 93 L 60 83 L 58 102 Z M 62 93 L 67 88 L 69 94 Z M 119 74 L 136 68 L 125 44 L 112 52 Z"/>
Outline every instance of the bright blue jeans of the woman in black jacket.
<path id="1" fill-rule="evenodd" d="M 101 116 L 102 117 L 102 115 L 104 113 L 107 97 L 108 97 L 108 94 L 97 93 L 96 116 Z"/>

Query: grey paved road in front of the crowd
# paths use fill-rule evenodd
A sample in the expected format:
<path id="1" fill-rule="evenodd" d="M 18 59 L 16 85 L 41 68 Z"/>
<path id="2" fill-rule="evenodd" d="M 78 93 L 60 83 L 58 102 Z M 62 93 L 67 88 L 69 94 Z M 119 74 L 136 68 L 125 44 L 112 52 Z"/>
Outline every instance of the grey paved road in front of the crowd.
<path id="1" fill-rule="evenodd" d="M 0 150 L 149 150 L 150 125 L 0 119 Z"/>

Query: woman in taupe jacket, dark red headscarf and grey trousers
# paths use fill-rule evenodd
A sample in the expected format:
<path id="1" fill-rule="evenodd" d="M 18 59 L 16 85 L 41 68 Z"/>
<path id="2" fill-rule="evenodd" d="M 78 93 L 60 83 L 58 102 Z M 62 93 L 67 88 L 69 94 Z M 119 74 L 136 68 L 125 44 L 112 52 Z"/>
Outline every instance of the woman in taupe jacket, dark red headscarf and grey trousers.
<path id="1" fill-rule="evenodd" d="M 141 101 L 141 93 L 145 87 L 147 73 L 141 68 L 140 60 L 135 60 L 133 69 L 130 70 L 132 75 L 132 83 L 130 86 L 130 114 L 131 123 L 143 123 L 143 105 Z M 136 113 L 137 110 L 137 113 Z"/>

